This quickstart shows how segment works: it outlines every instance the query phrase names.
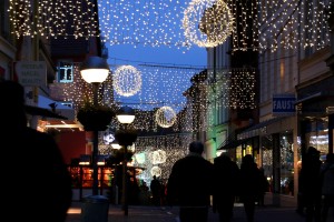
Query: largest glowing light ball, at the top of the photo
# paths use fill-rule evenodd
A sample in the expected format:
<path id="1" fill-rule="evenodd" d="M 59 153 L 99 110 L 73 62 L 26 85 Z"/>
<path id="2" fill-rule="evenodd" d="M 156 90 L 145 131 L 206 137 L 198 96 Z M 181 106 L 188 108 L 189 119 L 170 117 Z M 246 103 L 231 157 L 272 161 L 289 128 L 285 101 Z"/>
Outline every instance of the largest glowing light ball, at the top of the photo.
<path id="1" fill-rule="evenodd" d="M 233 32 L 234 17 L 223 0 L 193 0 L 184 11 L 186 39 L 198 47 L 222 44 Z"/>

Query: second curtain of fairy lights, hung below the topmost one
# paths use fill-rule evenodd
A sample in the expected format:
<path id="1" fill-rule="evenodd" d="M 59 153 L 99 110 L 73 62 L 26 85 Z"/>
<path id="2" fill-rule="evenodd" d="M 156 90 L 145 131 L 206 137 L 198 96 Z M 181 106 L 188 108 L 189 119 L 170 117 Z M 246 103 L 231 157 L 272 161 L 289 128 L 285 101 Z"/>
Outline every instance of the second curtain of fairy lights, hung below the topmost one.
<path id="1" fill-rule="evenodd" d="M 80 64 L 72 65 L 73 82 L 61 83 L 59 90 L 78 111 L 85 101 L 94 98 L 92 87 L 81 79 Z M 136 119 L 131 124 L 139 131 L 157 132 L 159 128 L 170 128 L 175 132 L 197 132 L 210 129 L 216 109 L 255 108 L 255 69 L 217 69 L 214 81 L 203 78 L 203 81 L 194 83 L 191 78 L 206 71 L 184 67 L 138 65 L 136 73 L 140 72 L 145 85 L 131 97 L 116 92 L 112 79 L 117 69 L 114 65 L 110 75 L 99 85 L 99 103 L 134 108 Z M 207 72 L 208 77 L 213 75 L 213 70 Z M 115 121 L 111 124 L 117 127 L 119 123 Z"/>

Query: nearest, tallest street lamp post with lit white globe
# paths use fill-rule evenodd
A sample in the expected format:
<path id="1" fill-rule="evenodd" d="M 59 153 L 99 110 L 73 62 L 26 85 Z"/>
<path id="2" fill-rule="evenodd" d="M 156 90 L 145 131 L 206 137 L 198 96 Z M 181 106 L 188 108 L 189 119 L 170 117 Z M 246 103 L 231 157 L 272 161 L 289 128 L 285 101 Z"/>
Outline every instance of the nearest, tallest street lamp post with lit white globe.
<path id="1" fill-rule="evenodd" d="M 80 67 L 82 79 L 92 84 L 94 107 L 98 105 L 98 88 L 109 74 L 107 60 L 100 57 L 89 57 Z M 98 194 L 98 129 L 92 130 L 92 195 Z"/>

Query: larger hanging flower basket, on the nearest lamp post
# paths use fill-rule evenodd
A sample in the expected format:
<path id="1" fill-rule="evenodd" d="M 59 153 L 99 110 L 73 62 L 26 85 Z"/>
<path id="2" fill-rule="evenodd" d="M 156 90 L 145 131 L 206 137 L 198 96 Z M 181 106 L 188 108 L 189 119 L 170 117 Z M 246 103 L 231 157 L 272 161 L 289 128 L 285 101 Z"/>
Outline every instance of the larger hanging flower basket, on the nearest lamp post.
<path id="1" fill-rule="evenodd" d="M 84 125 L 85 131 L 105 131 L 114 117 L 115 111 L 111 108 L 94 107 L 90 103 L 86 103 L 77 113 L 77 120 Z"/>

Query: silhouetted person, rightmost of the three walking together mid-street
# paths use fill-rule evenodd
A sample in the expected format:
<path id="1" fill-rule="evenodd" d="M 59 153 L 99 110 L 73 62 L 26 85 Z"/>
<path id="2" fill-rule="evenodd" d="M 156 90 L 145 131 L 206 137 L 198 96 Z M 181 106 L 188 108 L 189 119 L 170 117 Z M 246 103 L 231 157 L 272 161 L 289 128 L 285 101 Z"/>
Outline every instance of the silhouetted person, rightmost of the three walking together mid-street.
<path id="1" fill-rule="evenodd" d="M 250 154 L 246 154 L 240 165 L 240 201 L 248 222 L 254 222 L 255 202 L 261 193 L 262 174 Z"/>

